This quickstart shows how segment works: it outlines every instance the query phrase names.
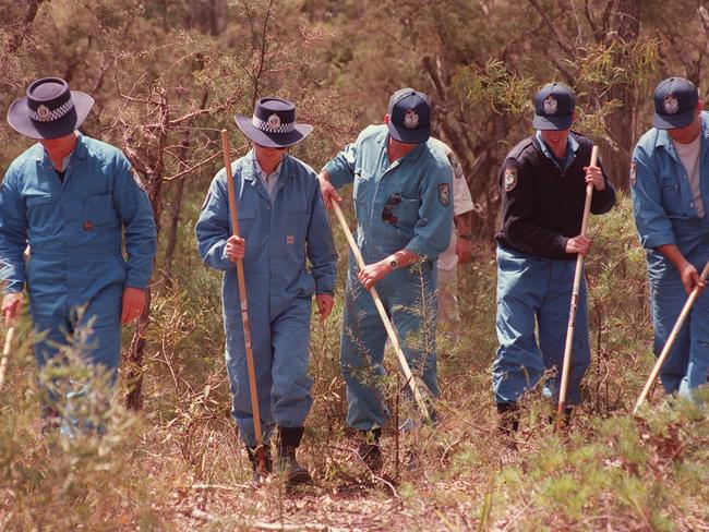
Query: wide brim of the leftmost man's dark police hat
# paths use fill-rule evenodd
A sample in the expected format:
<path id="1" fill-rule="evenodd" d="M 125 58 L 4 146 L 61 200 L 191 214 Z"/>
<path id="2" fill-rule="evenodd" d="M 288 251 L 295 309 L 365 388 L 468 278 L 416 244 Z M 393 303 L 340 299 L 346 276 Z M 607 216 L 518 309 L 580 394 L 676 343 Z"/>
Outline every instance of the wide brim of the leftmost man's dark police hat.
<path id="1" fill-rule="evenodd" d="M 17 133 L 28 138 L 51 140 L 67 136 L 79 129 L 94 106 L 94 98 L 81 90 L 72 90 L 71 97 L 74 101 L 74 108 L 62 118 L 51 122 L 35 122 L 32 120 L 27 98 L 19 98 L 8 109 L 8 123 Z"/>

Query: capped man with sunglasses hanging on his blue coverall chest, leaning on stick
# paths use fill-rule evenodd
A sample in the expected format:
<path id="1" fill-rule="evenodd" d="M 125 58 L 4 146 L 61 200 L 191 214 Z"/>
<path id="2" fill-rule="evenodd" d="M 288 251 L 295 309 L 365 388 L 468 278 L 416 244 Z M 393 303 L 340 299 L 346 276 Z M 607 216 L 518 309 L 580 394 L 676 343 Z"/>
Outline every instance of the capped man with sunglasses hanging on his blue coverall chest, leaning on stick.
<path id="1" fill-rule="evenodd" d="M 428 97 L 411 88 L 394 93 L 383 125 L 370 125 L 319 176 L 323 198 L 353 183 L 357 243 L 366 267 L 350 254 L 340 346 L 347 383 L 347 423 L 361 431 L 360 455 L 380 468 L 381 427 L 388 410 L 381 397 L 386 331 L 366 293 L 375 282 L 402 340 L 404 354 L 431 396 L 438 394 L 435 359 L 435 271 L 453 223 L 453 170 L 430 140 Z M 363 290 L 362 288 L 366 289 Z M 412 335 L 421 335 L 417 342 Z"/>

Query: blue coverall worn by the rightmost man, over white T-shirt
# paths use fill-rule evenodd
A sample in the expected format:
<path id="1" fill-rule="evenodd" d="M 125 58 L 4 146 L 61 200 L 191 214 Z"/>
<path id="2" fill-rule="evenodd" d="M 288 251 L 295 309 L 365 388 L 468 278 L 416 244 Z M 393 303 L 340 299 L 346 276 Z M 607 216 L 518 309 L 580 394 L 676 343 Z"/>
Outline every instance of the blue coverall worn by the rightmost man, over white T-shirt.
<path id="1" fill-rule="evenodd" d="M 701 113 L 700 192 L 709 211 L 709 113 Z M 709 219 L 700 218 L 693 202 L 687 172 L 665 130 L 651 129 L 638 141 L 632 166 L 633 213 L 640 243 L 646 249 L 654 353 L 659 355 L 680 316 L 687 294 L 680 273 L 657 249 L 675 244 L 698 271 L 709 259 Z M 662 366 L 668 392 L 685 397 L 707 383 L 709 371 L 709 293 L 705 290 L 692 309 Z"/>

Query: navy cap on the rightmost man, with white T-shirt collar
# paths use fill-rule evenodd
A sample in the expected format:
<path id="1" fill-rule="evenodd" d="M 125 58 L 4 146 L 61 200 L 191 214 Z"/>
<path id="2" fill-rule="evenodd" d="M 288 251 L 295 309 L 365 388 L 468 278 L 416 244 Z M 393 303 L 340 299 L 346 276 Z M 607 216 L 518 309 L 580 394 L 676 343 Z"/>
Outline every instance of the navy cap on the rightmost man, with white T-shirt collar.
<path id="1" fill-rule="evenodd" d="M 669 77 L 654 89 L 652 125 L 658 130 L 674 130 L 689 125 L 699 102 L 699 92 L 684 77 Z"/>

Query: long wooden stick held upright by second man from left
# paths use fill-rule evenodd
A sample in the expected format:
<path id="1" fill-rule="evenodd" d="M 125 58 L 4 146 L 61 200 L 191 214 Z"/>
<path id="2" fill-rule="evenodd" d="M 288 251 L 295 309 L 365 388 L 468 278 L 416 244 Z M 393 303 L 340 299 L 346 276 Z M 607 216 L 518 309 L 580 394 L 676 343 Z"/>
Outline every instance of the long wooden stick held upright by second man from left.
<path id="1" fill-rule="evenodd" d="M 229 134 L 221 130 L 221 150 L 224 152 L 224 168 L 227 172 L 227 190 L 229 192 L 229 217 L 231 218 L 231 232 L 239 235 L 239 214 L 237 211 L 237 192 L 233 185 L 231 172 L 231 149 L 229 147 Z M 253 430 L 256 433 L 256 461 L 262 472 L 266 471 L 266 450 L 263 446 L 263 434 L 261 433 L 261 412 L 259 409 L 259 392 L 256 390 L 256 372 L 253 363 L 253 350 L 251 349 L 251 326 L 249 324 L 249 303 L 247 301 L 247 283 L 243 274 L 243 261 L 237 261 L 237 278 L 239 280 L 239 301 L 241 309 L 241 323 L 243 325 L 243 342 L 247 348 L 247 368 L 249 371 L 249 391 L 251 392 L 251 413 L 253 418 Z"/>

